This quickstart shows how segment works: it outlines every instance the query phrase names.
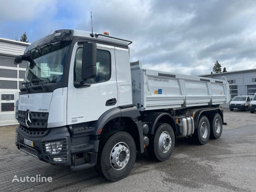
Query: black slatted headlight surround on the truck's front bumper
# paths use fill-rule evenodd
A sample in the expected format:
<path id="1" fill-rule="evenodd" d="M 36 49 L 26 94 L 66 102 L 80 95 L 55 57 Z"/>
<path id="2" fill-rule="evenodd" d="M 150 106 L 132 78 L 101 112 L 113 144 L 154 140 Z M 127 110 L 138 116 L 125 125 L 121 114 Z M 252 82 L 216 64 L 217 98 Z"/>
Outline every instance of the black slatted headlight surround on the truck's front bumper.
<path id="1" fill-rule="evenodd" d="M 48 146 L 46 146 L 46 144 L 55 143 L 55 142 L 60 142 L 62 144 L 62 148 L 61 150 L 58 150 L 58 146 L 51 146 L 51 149 L 58 153 L 50 154 L 50 152 L 46 151 L 49 148 Z M 48 156 L 49 160 L 53 163 L 65 162 L 68 160 L 68 140 L 65 138 L 61 140 L 42 141 L 42 151 L 43 151 L 43 154 Z"/>

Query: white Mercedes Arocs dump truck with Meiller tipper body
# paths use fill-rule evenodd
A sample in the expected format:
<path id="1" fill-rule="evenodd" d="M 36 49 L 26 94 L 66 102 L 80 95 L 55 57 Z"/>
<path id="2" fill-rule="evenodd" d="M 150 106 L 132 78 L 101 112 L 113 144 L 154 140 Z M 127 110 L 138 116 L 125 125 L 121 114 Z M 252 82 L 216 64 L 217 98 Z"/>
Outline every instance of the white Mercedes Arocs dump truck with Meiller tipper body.
<path id="1" fill-rule="evenodd" d="M 136 152 L 170 158 L 177 138 L 204 145 L 222 134 L 226 78 L 147 70 L 130 63 L 131 41 L 56 30 L 26 48 L 16 102 L 16 146 L 39 160 L 95 166 L 110 181 L 126 177 Z M 36 163 L 36 162 L 35 162 Z"/>

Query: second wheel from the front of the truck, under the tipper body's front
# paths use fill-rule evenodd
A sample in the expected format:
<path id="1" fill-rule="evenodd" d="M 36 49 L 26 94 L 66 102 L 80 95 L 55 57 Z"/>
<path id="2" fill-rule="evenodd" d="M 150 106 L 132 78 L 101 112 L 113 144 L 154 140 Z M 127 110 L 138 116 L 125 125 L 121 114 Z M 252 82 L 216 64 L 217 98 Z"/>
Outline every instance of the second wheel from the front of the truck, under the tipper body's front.
<path id="1" fill-rule="evenodd" d="M 158 161 L 168 160 L 175 145 L 172 127 L 167 123 L 157 124 L 155 134 L 149 139 L 147 147 L 149 156 Z"/>

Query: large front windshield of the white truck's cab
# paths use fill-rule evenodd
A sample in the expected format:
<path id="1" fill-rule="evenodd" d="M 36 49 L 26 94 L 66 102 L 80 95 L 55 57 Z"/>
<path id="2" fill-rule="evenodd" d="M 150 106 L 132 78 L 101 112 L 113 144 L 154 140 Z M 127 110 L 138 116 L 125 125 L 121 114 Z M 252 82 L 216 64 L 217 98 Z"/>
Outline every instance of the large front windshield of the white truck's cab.
<path id="1" fill-rule="evenodd" d="M 68 45 L 69 42 L 54 42 L 32 50 L 25 82 L 32 82 L 34 79 L 44 83 L 61 82 Z"/>

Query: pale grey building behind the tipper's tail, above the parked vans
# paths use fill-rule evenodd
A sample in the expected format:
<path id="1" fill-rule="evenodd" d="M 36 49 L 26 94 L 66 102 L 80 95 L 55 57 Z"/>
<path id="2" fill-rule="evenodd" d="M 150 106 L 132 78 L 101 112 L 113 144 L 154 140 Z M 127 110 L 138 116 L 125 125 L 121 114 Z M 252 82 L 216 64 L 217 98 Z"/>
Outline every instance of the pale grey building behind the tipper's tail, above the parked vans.
<path id="1" fill-rule="evenodd" d="M 211 74 L 200 75 L 211 78 Z M 253 95 L 256 93 L 256 69 L 214 73 L 213 78 L 225 76 L 229 82 L 231 98 L 238 95 Z"/>

